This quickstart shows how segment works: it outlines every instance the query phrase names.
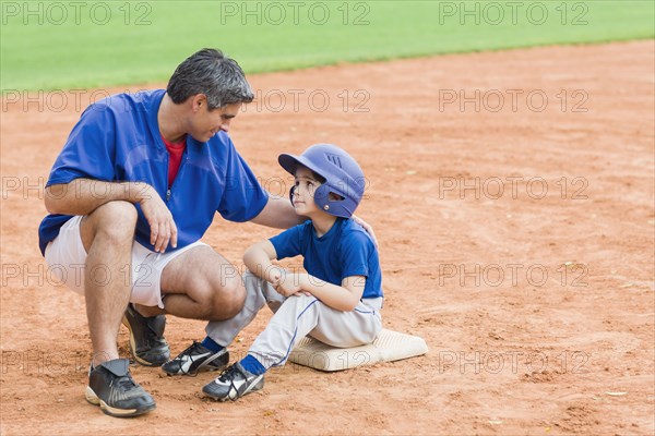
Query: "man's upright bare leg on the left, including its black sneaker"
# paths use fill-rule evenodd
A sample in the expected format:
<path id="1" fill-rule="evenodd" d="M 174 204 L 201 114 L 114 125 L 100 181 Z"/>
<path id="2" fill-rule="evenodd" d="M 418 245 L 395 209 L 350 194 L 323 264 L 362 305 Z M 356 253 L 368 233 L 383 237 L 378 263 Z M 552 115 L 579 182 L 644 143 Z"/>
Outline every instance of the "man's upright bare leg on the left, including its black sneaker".
<path id="1" fill-rule="evenodd" d="M 86 400 L 111 416 L 136 416 L 156 408 L 153 398 L 130 374 L 130 362 L 118 359 L 116 339 L 130 301 L 131 262 L 136 209 L 110 202 L 84 217 L 80 237 L 86 251 L 84 296 L 93 344 Z"/>

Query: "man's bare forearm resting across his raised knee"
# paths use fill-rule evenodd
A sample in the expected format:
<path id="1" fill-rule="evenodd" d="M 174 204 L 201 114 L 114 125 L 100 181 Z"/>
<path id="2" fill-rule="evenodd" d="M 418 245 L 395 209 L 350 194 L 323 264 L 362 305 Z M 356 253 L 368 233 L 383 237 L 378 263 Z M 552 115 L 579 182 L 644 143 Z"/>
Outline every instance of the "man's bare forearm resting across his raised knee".
<path id="1" fill-rule="evenodd" d="M 46 187 L 45 204 L 50 214 L 88 215 L 109 202 L 139 203 L 150 195 L 157 194 L 147 183 L 75 179 Z"/>

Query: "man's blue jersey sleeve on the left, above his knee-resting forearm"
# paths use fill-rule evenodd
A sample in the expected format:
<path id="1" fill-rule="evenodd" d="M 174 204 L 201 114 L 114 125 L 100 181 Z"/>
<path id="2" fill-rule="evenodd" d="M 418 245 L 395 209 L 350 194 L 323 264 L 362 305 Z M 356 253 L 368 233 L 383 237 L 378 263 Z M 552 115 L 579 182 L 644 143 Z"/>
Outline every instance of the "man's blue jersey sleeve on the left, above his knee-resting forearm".
<path id="1" fill-rule="evenodd" d="M 116 154 L 116 119 L 106 102 L 97 102 L 80 117 L 57 157 L 46 187 L 75 179 L 112 181 Z"/>

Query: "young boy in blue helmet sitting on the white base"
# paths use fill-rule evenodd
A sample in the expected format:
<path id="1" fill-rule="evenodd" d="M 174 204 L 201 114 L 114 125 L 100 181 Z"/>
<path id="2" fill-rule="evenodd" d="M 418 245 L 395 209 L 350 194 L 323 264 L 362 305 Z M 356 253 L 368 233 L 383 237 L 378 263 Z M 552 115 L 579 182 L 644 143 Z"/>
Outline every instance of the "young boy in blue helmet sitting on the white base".
<path id="1" fill-rule="evenodd" d="M 290 197 L 310 220 L 247 250 L 243 310 L 207 326 L 207 337 L 165 364 L 169 374 L 214 370 L 227 363 L 224 347 L 269 303 L 273 318 L 248 355 L 225 370 L 203 392 L 236 400 L 264 385 L 264 373 L 285 364 L 295 344 L 309 335 L 333 347 L 372 342 L 382 329 L 382 276 L 370 235 L 350 217 L 365 190 L 361 169 L 337 146 L 318 144 L 301 156 L 283 154 L 279 165 L 295 177 Z M 271 261 L 303 256 L 306 272 Z"/>

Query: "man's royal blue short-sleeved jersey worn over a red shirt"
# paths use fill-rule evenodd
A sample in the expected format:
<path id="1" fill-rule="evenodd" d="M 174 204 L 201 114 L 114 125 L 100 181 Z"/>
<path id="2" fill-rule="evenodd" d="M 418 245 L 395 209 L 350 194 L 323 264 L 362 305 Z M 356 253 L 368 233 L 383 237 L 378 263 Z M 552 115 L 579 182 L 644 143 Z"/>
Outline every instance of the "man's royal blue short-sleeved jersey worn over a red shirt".
<path id="1" fill-rule="evenodd" d="M 223 131 L 206 143 L 187 135 L 182 162 L 169 189 L 168 152 L 157 122 L 164 94 L 164 89 L 119 94 L 90 106 L 55 161 L 46 186 L 80 178 L 152 185 L 178 229 L 177 249 L 168 245 L 170 252 L 198 241 L 216 211 L 230 221 L 248 221 L 264 208 L 269 196 Z M 104 195 L 103 187 L 92 186 L 92 194 Z M 150 225 L 139 205 L 136 210 L 135 239 L 152 250 Z M 70 218 L 48 215 L 41 221 L 41 253 Z"/>

